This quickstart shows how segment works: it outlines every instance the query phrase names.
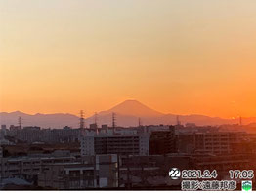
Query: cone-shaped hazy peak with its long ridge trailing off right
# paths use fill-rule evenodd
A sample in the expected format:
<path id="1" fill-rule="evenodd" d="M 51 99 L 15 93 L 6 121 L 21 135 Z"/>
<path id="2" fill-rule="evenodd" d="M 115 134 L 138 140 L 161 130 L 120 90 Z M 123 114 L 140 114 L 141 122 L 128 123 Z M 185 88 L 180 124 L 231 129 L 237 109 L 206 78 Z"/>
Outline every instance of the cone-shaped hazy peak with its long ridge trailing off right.
<path id="1" fill-rule="evenodd" d="M 116 123 L 119 126 L 138 126 L 139 118 L 144 125 L 158 125 L 158 124 L 176 124 L 177 115 L 163 114 L 155 111 L 137 100 L 126 100 L 107 111 L 98 113 L 98 124 L 111 125 L 112 113 L 116 113 Z M 222 119 L 219 117 L 208 117 L 204 115 L 179 115 L 182 124 L 195 123 L 196 125 L 222 125 L 222 124 L 237 124 L 238 119 Z M 86 119 L 87 123 L 94 123 L 95 117 Z M 247 123 L 256 122 L 256 118 L 244 119 Z"/>

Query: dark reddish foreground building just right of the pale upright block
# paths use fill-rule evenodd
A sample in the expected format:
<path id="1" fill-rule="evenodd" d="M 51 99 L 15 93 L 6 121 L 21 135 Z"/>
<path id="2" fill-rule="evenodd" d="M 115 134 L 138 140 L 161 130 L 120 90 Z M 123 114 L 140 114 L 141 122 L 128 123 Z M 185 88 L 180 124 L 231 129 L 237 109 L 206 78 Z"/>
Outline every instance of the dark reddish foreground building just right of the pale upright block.
<path id="1" fill-rule="evenodd" d="M 168 187 L 180 185 L 181 180 L 169 177 L 171 168 L 190 169 L 188 155 L 120 156 L 119 187 Z"/>

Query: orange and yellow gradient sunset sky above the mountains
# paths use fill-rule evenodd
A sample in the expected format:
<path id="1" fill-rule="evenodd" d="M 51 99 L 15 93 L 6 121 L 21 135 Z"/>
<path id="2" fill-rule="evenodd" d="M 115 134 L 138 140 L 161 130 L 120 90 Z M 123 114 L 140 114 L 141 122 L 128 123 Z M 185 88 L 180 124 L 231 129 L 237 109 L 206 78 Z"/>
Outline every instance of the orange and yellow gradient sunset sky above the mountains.
<path id="1" fill-rule="evenodd" d="M 0 111 L 256 116 L 256 1 L 0 0 L 0 71 Z"/>

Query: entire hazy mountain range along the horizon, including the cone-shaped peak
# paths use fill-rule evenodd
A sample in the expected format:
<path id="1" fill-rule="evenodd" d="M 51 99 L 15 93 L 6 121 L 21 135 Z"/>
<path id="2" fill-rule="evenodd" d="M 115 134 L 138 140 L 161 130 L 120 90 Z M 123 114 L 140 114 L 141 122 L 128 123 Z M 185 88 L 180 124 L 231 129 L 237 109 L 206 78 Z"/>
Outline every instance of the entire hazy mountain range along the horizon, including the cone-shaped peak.
<path id="1" fill-rule="evenodd" d="M 149 108 L 137 100 L 126 100 L 106 111 L 101 111 L 97 115 L 98 125 L 107 124 L 111 126 L 112 113 L 116 114 L 116 124 L 118 126 L 129 127 L 138 126 L 139 118 L 143 125 L 176 124 L 177 115 L 164 114 Z M 18 118 L 22 117 L 23 126 L 40 126 L 41 128 L 61 129 L 64 126 L 72 128 L 79 127 L 79 117 L 72 114 L 34 114 L 29 115 L 20 111 L 1 112 L 0 124 L 18 125 Z M 239 119 L 223 119 L 219 117 L 209 117 L 205 115 L 179 115 L 182 124 L 195 123 L 196 125 L 223 125 L 238 124 Z M 243 118 L 243 124 L 256 123 L 256 118 Z M 95 117 L 85 119 L 86 126 L 95 122 Z"/>

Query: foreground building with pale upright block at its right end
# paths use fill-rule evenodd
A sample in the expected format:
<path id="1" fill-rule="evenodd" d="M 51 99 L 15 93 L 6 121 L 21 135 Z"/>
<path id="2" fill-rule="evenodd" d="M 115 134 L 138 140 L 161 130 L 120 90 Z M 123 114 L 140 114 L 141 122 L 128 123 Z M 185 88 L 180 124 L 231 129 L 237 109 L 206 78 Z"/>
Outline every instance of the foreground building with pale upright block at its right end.
<path id="1" fill-rule="evenodd" d="M 38 174 L 38 185 L 59 190 L 118 187 L 117 155 L 96 155 L 83 162 L 48 164 Z"/>

